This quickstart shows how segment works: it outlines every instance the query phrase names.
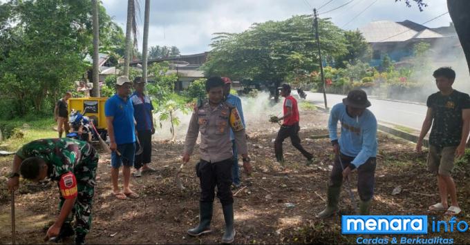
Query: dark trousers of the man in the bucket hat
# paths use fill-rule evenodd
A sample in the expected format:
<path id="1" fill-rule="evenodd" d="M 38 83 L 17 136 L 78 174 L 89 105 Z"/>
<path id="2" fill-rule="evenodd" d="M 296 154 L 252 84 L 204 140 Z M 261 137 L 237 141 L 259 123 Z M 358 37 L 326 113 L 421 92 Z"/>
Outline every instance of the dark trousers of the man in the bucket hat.
<path id="1" fill-rule="evenodd" d="M 355 157 L 349 157 L 341 154 L 341 161 L 343 161 L 343 167 L 346 168 L 351 164 Z M 367 202 L 372 199 L 374 195 L 374 184 L 375 184 L 375 166 L 376 158 L 370 157 L 367 161 L 357 168 L 357 192 L 362 201 Z M 339 163 L 338 157 L 335 157 L 335 165 L 330 175 L 331 187 L 341 187 L 343 183 L 343 169 Z"/>

